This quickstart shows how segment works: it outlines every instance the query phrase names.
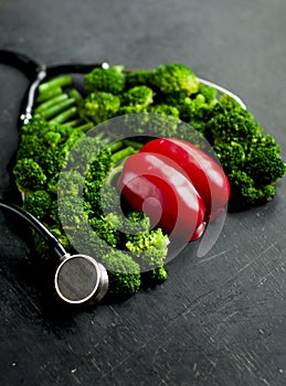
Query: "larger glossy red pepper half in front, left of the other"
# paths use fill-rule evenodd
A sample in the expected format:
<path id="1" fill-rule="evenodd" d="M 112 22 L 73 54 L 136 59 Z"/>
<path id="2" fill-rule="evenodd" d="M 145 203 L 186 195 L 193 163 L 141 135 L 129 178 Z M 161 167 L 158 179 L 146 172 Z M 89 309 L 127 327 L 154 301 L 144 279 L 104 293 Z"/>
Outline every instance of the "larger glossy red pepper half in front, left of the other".
<path id="1" fill-rule="evenodd" d="M 189 242 L 203 233 L 204 203 L 189 179 L 165 156 L 130 156 L 117 185 L 134 210 L 145 212 L 152 225 L 167 234 Z"/>

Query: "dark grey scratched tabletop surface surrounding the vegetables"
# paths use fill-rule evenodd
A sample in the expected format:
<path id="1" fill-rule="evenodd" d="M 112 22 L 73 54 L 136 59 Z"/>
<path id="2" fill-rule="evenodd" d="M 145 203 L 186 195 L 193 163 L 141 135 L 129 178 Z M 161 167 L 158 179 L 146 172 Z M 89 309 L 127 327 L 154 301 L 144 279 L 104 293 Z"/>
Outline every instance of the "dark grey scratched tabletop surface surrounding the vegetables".
<path id="1" fill-rule="evenodd" d="M 285 0 L 0 0 L 0 49 L 46 64 L 183 62 L 239 94 L 286 159 Z M 27 79 L 0 68 L 1 191 Z M 29 266 L 25 228 L 0 217 L 0 385 L 285 385 L 286 179 L 229 215 L 203 258 L 126 302 L 63 309 Z"/>

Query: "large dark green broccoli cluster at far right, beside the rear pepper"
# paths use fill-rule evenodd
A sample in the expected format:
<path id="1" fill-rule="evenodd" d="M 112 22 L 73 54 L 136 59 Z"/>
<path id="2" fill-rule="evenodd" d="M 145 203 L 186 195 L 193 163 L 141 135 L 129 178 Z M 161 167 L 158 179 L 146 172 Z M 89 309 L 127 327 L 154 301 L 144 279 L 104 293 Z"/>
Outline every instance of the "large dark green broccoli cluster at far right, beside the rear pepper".
<path id="1" fill-rule="evenodd" d="M 263 135 L 253 115 L 229 96 L 221 97 L 210 115 L 204 135 L 230 180 L 229 208 L 242 211 L 269 202 L 275 183 L 286 172 L 274 138 Z"/>

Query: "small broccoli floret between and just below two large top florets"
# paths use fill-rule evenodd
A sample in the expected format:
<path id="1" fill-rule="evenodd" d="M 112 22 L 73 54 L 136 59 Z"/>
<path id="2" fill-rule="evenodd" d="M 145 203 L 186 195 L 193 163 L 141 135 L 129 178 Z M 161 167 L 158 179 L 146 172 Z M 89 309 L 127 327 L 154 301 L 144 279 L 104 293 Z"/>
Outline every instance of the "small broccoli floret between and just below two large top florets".
<path id="1" fill-rule="evenodd" d="M 142 109 L 151 105 L 152 101 L 153 92 L 147 86 L 133 87 L 125 92 L 121 96 L 121 105 L 136 108 L 136 112 L 141 111 Z"/>

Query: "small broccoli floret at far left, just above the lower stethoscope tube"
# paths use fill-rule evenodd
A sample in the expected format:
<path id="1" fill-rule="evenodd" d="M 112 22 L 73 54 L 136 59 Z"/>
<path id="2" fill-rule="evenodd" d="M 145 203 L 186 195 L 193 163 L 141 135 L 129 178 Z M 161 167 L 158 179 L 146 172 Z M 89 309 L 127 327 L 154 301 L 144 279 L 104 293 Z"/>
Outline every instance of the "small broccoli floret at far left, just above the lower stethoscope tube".
<path id="1" fill-rule="evenodd" d="M 24 196 L 23 207 L 38 219 L 44 219 L 52 206 L 52 197 L 46 191 L 35 191 Z"/>

